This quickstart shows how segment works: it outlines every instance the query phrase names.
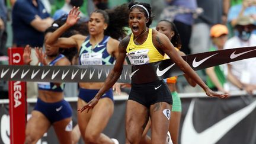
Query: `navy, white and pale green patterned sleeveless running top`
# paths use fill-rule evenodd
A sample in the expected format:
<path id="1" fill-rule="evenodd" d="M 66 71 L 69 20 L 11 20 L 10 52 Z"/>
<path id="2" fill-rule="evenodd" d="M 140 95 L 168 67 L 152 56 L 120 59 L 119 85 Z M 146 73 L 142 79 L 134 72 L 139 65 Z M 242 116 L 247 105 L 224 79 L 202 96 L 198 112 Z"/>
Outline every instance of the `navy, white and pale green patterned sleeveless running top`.
<path id="1" fill-rule="evenodd" d="M 103 40 L 95 47 L 89 43 L 89 36 L 85 39 L 79 52 L 79 65 L 111 65 L 114 57 L 107 52 L 107 41 L 110 36 L 104 36 Z"/>

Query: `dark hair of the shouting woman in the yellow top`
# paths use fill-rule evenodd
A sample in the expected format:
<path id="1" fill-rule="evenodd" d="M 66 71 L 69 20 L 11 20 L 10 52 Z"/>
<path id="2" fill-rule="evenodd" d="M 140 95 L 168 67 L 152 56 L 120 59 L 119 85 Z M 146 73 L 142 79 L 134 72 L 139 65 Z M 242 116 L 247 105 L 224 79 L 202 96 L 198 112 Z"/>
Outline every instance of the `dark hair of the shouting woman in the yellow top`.
<path id="1" fill-rule="evenodd" d="M 133 7 L 133 5 L 136 5 L 136 4 L 143 5 L 146 9 L 148 9 L 149 15 L 145 11 L 145 9 L 143 9 L 142 7 Z M 130 2 L 128 7 L 129 7 L 130 11 L 132 11 L 135 8 L 137 8 L 137 9 L 139 9 L 140 12 L 144 13 L 145 17 L 149 19 L 148 23 L 146 23 L 147 27 L 149 27 L 152 24 L 153 15 L 152 15 L 151 5 L 150 4 L 147 4 L 147 3 L 144 3 L 144 2 L 134 2 L 134 1 L 132 1 L 132 2 Z"/>

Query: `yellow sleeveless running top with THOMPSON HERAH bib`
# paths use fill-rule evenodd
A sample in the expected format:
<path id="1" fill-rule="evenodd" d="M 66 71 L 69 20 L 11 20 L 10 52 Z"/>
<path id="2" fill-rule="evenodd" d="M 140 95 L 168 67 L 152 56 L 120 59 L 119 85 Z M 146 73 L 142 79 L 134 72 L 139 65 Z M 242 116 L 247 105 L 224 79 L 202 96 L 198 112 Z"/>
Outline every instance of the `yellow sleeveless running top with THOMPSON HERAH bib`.
<path id="1" fill-rule="evenodd" d="M 146 41 L 140 45 L 134 43 L 132 34 L 126 52 L 132 65 L 143 65 L 145 63 L 158 62 L 164 59 L 164 56 L 161 55 L 153 45 L 151 28 L 149 28 L 149 34 Z"/>

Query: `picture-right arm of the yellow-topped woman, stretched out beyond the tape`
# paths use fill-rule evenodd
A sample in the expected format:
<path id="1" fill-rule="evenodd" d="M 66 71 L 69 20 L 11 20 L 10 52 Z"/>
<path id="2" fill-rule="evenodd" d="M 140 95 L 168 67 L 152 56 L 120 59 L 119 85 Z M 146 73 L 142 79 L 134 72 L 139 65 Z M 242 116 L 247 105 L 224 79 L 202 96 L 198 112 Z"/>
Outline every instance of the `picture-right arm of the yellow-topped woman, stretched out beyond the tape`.
<path id="1" fill-rule="evenodd" d="M 206 94 L 209 97 L 220 97 L 225 98 L 228 95 L 226 94 L 217 94 L 212 91 L 207 85 L 203 82 L 203 80 L 197 75 L 197 73 L 185 62 L 182 57 L 175 50 L 174 46 L 169 41 L 168 37 L 165 34 L 161 34 L 158 31 L 154 31 L 153 33 L 153 44 L 158 47 L 159 50 L 162 50 L 163 53 L 166 53 L 172 61 L 178 65 L 185 74 L 187 74 L 191 79 L 193 79 L 197 84 L 200 85 L 201 88 L 204 89 Z"/>

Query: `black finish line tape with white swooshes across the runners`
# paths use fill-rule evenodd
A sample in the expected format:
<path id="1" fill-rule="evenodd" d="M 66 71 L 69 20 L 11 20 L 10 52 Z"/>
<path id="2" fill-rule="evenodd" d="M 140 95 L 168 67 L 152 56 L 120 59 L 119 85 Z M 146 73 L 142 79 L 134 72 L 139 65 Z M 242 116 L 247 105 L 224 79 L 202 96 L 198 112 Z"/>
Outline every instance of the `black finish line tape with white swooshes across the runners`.
<path id="1" fill-rule="evenodd" d="M 256 56 L 256 47 L 241 47 L 183 56 L 194 69 L 209 68 Z M 256 60 L 255 60 L 256 62 Z M 0 65 L 0 80 L 42 82 L 104 82 L 114 65 L 89 66 L 27 66 Z M 117 82 L 143 84 L 183 75 L 184 72 L 170 59 L 145 65 L 124 65 Z"/>

